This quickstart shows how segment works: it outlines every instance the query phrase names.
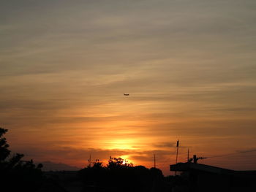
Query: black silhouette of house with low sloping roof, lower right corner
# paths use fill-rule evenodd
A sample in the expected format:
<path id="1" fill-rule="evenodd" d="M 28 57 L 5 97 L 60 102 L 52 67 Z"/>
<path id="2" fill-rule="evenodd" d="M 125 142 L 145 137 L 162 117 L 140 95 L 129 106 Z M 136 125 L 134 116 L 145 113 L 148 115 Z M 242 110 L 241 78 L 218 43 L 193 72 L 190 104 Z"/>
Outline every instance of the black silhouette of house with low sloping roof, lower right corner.
<path id="1" fill-rule="evenodd" d="M 196 161 L 170 165 L 170 171 L 182 172 L 187 180 L 183 191 L 256 191 L 256 171 L 234 171 Z"/>

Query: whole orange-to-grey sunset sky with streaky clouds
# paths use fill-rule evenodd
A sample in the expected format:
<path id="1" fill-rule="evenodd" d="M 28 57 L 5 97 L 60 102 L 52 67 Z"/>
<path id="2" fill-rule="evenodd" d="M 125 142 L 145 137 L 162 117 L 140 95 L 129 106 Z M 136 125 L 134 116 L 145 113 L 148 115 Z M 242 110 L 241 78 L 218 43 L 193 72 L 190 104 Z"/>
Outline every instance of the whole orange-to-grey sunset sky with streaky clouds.
<path id="1" fill-rule="evenodd" d="M 0 0 L 13 152 L 256 169 L 255 0 Z M 129 96 L 124 96 L 129 93 Z"/>

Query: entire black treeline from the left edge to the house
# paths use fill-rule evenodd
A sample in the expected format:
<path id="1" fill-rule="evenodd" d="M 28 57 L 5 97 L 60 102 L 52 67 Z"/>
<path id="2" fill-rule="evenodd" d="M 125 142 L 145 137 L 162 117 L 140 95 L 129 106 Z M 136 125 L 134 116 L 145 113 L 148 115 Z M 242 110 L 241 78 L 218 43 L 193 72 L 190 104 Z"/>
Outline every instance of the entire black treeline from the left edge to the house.
<path id="1" fill-rule="evenodd" d="M 122 158 L 99 160 L 78 172 L 42 172 L 42 164 L 23 161 L 23 154 L 12 154 L 0 128 L 0 189 L 26 192 L 108 192 L 171 191 L 178 177 L 164 177 L 160 169 L 133 166 Z"/>

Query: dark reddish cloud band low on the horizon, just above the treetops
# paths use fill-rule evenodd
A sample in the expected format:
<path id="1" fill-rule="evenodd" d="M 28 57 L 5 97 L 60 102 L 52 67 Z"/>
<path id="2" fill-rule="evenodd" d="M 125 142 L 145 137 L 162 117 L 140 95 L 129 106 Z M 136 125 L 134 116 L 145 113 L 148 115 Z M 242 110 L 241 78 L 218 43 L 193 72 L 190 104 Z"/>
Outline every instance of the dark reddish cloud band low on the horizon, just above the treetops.
<path id="1" fill-rule="evenodd" d="M 18 149 L 15 149 L 15 152 Z M 86 164 L 86 161 L 89 158 L 89 155 L 94 159 L 99 159 L 100 161 L 105 161 L 106 164 L 109 156 L 120 157 L 123 155 L 128 155 L 129 160 L 135 160 L 136 163 L 147 160 L 151 161 L 152 155 L 157 154 L 160 158 L 166 158 L 166 155 L 170 154 L 170 150 L 105 150 L 97 148 L 75 148 L 75 147 L 59 147 L 55 149 L 43 149 L 41 147 L 26 147 L 23 149 L 23 153 L 26 155 L 26 158 L 34 158 L 35 161 L 45 161 L 48 158 L 50 161 L 64 161 L 64 162 L 80 162 L 83 161 Z M 171 151 L 173 153 L 173 151 Z M 52 157 L 52 158 L 50 158 Z M 65 160 L 61 160 L 61 157 L 65 157 Z"/>

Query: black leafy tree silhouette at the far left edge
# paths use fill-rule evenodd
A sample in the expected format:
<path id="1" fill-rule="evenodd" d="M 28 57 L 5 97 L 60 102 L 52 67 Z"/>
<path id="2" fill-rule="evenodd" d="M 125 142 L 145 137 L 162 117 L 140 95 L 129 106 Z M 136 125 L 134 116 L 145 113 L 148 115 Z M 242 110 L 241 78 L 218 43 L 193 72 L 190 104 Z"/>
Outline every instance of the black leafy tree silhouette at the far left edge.
<path id="1" fill-rule="evenodd" d="M 36 191 L 42 183 L 42 164 L 22 161 L 23 154 L 16 153 L 10 157 L 7 129 L 0 128 L 0 182 L 3 191 Z"/>

